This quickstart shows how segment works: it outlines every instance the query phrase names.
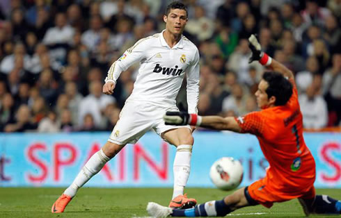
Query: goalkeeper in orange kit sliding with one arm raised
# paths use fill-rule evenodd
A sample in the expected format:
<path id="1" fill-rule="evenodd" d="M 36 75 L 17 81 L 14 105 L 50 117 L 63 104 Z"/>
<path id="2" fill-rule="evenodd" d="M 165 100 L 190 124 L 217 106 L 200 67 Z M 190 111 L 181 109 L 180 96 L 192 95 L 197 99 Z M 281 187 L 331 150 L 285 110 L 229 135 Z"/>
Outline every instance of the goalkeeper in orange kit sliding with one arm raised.
<path id="1" fill-rule="evenodd" d="M 269 169 L 264 178 L 242 187 L 221 201 L 209 201 L 187 210 L 172 210 L 157 203 L 148 203 L 148 213 L 156 217 L 223 217 L 246 206 L 299 199 L 306 215 L 340 214 L 341 201 L 315 194 L 315 160 L 303 139 L 303 117 L 299 107 L 294 75 L 276 60 L 261 51 L 254 35 L 248 39 L 252 56 L 272 69 L 265 72 L 255 93 L 262 109 L 244 117 L 200 117 L 187 112 L 166 112 L 166 124 L 193 125 L 257 137 Z"/>

